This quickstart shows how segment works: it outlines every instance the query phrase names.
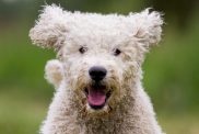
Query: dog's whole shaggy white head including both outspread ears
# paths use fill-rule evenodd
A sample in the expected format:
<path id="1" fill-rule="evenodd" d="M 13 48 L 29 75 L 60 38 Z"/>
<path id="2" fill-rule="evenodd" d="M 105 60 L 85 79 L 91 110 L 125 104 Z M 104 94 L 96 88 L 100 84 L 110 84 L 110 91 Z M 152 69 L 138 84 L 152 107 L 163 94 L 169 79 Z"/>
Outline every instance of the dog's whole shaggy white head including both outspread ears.
<path id="1" fill-rule="evenodd" d="M 151 44 L 161 38 L 163 21 L 148 10 L 124 15 L 66 12 L 46 7 L 30 32 L 33 42 L 52 47 L 63 65 L 65 82 L 89 113 L 108 113 L 140 79 Z"/>

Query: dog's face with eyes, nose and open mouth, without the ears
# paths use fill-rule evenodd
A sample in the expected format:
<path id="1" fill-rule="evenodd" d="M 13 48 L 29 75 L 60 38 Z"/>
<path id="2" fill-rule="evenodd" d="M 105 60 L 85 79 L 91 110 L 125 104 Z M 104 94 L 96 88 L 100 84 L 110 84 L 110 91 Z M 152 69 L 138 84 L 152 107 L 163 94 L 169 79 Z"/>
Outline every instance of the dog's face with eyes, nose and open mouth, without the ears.
<path id="1" fill-rule="evenodd" d="M 68 83 L 89 112 L 114 109 L 127 94 L 125 83 L 139 69 L 140 54 L 136 44 L 119 30 L 114 34 L 113 31 L 98 30 L 94 33 L 99 34 L 92 35 L 75 33 L 66 37 L 59 52 Z"/>

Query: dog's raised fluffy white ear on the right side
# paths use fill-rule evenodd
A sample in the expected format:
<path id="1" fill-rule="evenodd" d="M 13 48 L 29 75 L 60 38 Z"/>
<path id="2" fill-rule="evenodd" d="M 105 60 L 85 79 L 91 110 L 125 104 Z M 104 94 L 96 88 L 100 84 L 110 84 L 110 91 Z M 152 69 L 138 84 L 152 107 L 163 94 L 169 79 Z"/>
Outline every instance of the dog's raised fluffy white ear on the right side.
<path id="1" fill-rule="evenodd" d="M 162 14 L 147 9 L 141 13 L 130 13 L 133 40 L 145 51 L 161 41 L 163 19 Z"/>

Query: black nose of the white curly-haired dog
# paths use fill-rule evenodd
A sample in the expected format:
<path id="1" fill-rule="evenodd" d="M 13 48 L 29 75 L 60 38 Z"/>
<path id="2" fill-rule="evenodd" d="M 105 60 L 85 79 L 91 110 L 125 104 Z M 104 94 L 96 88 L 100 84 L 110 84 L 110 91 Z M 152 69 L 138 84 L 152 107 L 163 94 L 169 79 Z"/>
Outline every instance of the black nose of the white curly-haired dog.
<path id="1" fill-rule="evenodd" d="M 103 80 L 106 76 L 106 72 L 107 70 L 101 66 L 93 66 L 89 70 L 90 77 L 95 81 Z"/>

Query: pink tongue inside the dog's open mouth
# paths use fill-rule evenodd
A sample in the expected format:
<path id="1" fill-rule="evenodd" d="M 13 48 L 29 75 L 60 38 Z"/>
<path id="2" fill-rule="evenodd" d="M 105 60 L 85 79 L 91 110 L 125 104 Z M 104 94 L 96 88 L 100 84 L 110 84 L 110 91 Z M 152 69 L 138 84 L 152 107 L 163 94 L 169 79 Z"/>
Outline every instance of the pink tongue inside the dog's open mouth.
<path id="1" fill-rule="evenodd" d="M 89 103 L 92 105 L 102 105 L 106 101 L 106 94 L 103 92 L 103 89 L 89 89 L 87 96 Z"/>

